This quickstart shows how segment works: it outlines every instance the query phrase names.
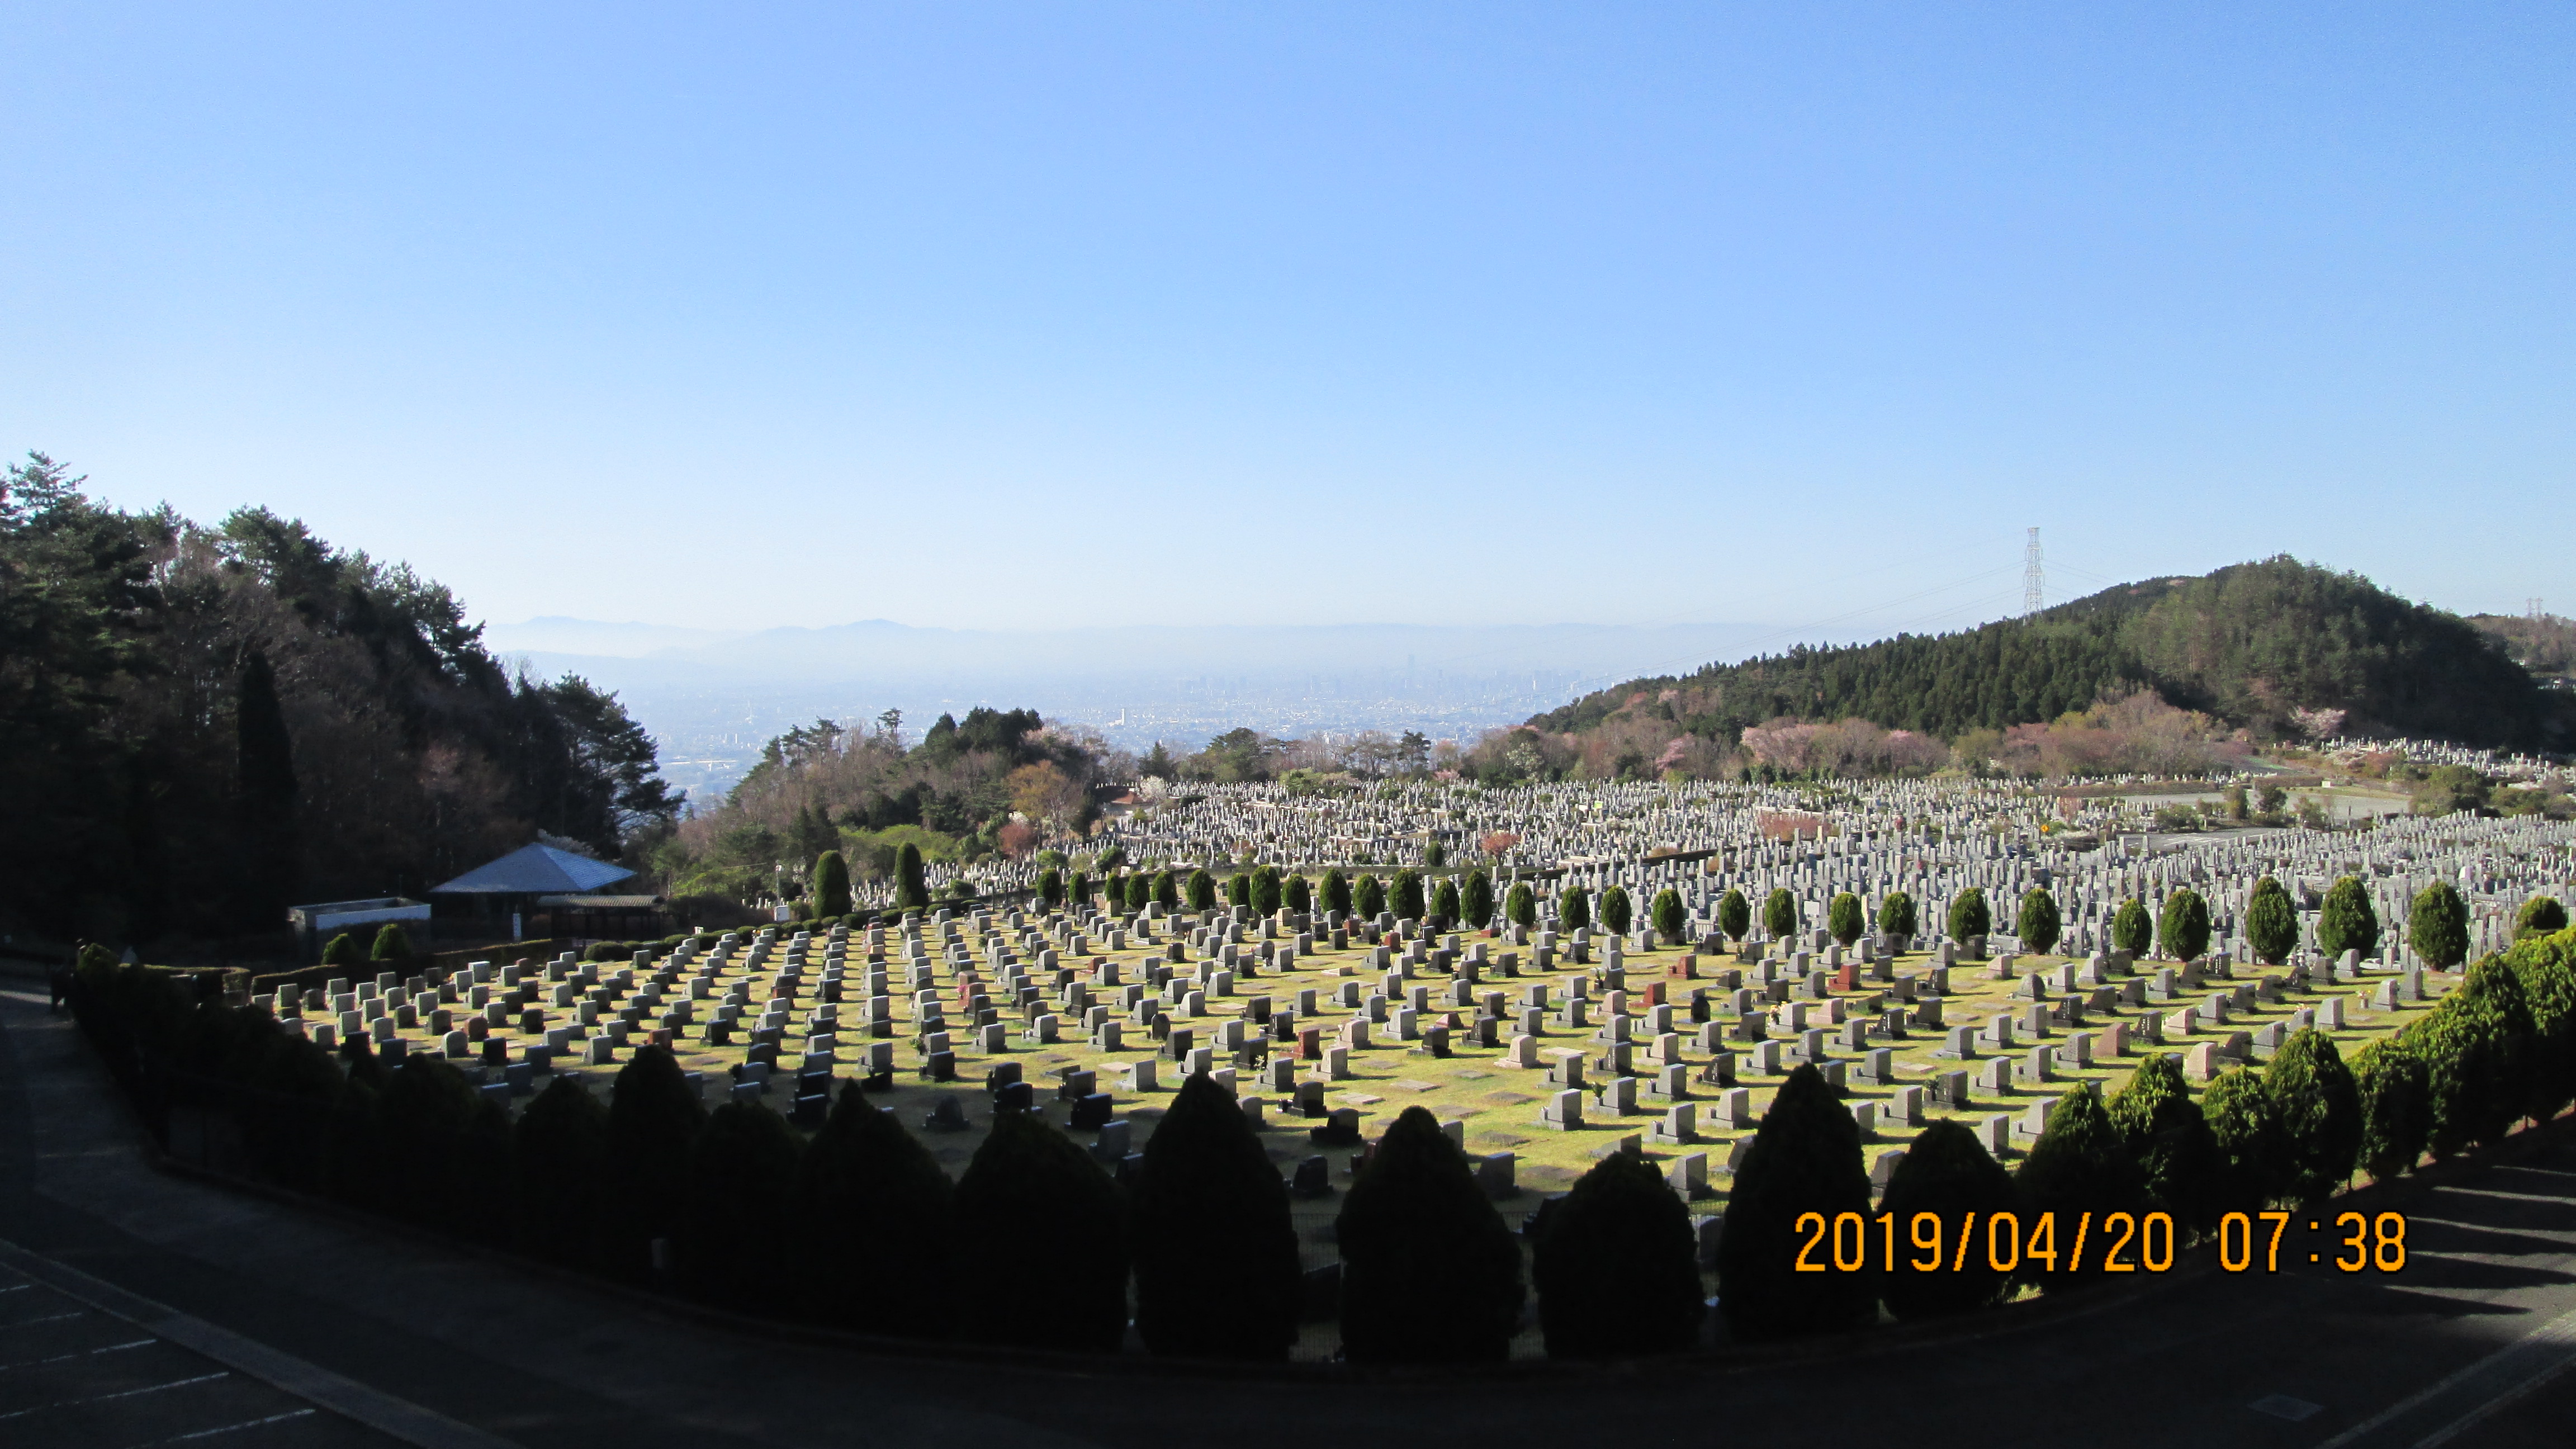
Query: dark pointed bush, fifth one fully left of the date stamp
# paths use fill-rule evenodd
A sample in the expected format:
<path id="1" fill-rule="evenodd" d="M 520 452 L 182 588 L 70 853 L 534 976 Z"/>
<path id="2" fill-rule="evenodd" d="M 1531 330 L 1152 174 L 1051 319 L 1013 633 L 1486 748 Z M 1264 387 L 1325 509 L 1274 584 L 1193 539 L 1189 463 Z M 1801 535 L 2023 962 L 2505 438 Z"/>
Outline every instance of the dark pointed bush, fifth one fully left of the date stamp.
<path id="1" fill-rule="evenodd" d="M 840 1088 L 832 1116 L 806 1142 L 791 1201 L 811 1305 L 824 1320 L 894 1338 L 948 1338 L 956 1183 L 858 1083 Z"/>

